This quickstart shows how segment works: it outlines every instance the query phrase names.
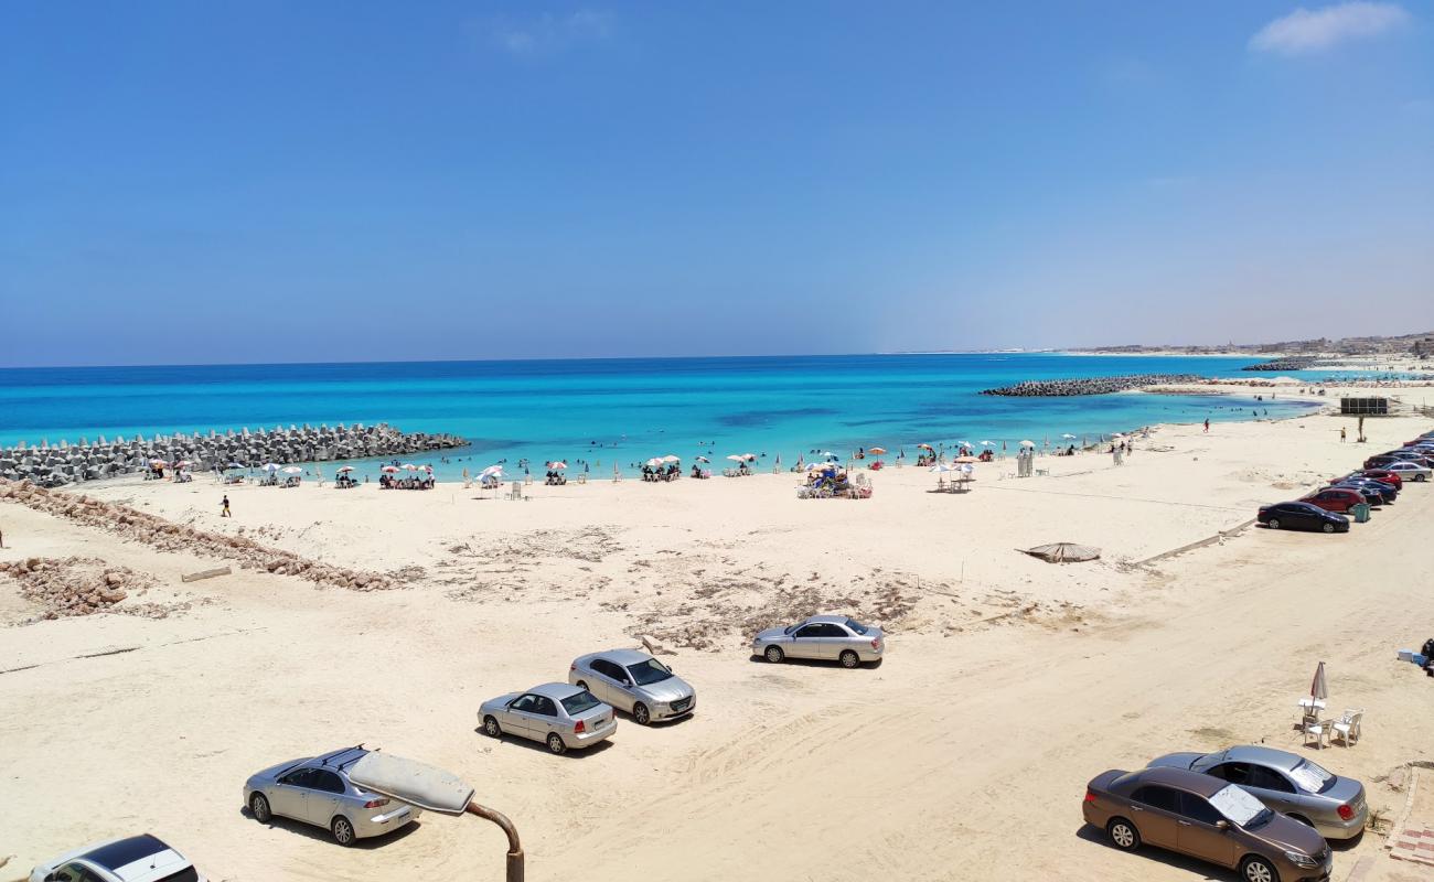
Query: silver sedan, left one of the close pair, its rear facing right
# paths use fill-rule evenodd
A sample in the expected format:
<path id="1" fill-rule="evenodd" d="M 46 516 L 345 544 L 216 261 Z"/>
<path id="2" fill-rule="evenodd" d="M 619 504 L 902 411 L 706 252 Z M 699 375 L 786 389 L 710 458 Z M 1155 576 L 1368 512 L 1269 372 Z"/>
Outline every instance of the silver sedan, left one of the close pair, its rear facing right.
<path id="1" fill-rule="evenodd" d="M 478 708 L 478 720 L 490 737 L 515 734 L 541 741 L 558 756 L 592 747 L 618 730 L 612 707 L 571 683 L 545 683 L 526 693 L 489 698 Z"/>

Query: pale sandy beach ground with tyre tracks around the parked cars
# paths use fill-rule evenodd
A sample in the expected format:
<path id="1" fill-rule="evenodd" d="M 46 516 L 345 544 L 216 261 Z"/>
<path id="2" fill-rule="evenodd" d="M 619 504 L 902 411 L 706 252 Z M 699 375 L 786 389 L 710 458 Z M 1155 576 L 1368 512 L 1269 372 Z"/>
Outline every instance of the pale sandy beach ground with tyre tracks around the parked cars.
<path id="1" fill-rule="evenodd" d="M 85 492 L 196 528 L 380 571 L 409 587 L 318 589 L 158 552 L 0 503 L 0 559 L 80 555 L 155 581 L 103 614 L 26 624 L 0 578 L 0 859 L 37 859 L 152 830 L 214 879 L 500 878 L 502 838 L 426 816 L 356 849 L 242 813 L 257 769 L 364 741 L 443 764 L 506 812 L 531 879 L 1233 878 L 1182 858 L 1117 853 L 1081 829 L 1084 783 L 1170 750 L 1263 741 L 1302 750 L 1295 700 L 1329 665 L 1331 707 L 1367 710 L 1365 740 L 1319 751 L 1382 784 L 1428 759 L 1434 683 L 1394 660 L 1434 634 L 1425 545 L 1434 488 L 1349 535 L 1238 528 L 1431 420 L 1164 426 L 1116 468 L 1047 457 L 978 472 L 965 495 L 925 470 L 873 475 L 869 501 L 799 501 L 789 475 L 529 488 L 526 502 L 432 492 L 126 482 Z M 1073 541 L 1100 562 L 1012 551 Z M 409 571 L 413 577 L 417 571 Z M 760 625 L 813 611 L 891 634 L 879 667 L 767 665 Z M 552 757 L 493 741 L 488 697 L 562 680 L 568 663 L 652 634 L 698 713 Z M 1312 751 L 1311 751 L 1312 753 Z M 1336 879 L 1378 836 L 1336 852 Z"/>

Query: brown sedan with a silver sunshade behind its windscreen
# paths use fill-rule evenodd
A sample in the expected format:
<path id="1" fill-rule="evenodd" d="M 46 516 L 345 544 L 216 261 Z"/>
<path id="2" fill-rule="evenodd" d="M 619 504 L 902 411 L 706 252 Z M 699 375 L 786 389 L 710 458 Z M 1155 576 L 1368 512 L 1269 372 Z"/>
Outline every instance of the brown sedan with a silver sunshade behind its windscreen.
<path id="1" fill-rule="evenodd" d="M 1329 846 L 1238 784 L 1187 769 L 1113 769 L 1086 786 L 1086 823 L 1127 852 L 1143 843 L 1238 869 L 1245 882 L 1328 882 Z"/>

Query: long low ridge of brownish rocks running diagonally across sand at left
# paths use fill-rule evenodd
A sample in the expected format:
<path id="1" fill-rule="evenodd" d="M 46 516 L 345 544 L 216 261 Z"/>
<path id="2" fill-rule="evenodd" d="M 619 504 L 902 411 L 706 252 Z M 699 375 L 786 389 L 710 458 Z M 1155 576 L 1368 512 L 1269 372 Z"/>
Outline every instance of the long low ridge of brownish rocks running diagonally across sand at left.
<path id="1" fill-rule="evenodd" d="M 39 512 L 67 518 L 159 551 L 182 551 L 222 558 L 234 561 L 242 569 L 297 575 L 301 579 L 333 588 L 381 591 L 397 588 L 404 579 L 416 578 L 422 572 L 414 572 L 410 568 L 396 577 L 334 566 L 311 561 L 291 551 L 267 548 L 245 536 L 211 534 L 156 518 L 128 505 L 102 502 L 83 495 L 57 493 L 29 482 L 0 480 L 0 501 L 17 502 Z"/>

